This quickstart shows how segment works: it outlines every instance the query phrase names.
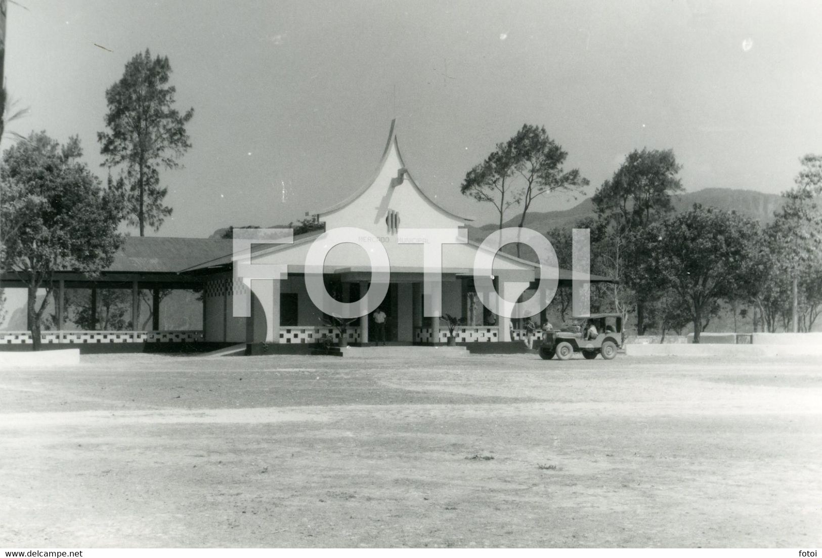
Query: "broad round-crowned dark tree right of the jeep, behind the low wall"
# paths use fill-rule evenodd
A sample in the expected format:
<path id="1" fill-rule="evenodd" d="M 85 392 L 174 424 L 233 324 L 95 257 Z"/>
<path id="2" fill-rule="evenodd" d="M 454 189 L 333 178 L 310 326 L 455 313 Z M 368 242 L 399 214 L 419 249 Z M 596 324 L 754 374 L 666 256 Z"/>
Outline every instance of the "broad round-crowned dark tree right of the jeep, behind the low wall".
<path id="1" fill-rule="evenodd" d="M 692 210 L 652 224 L 644 236 L 647 273 L 671 289 L 694 323 L 694 343 L 720 300 L 750 293 L 751 261 L 759 225 L 751 219 L 694 205 Z"/>

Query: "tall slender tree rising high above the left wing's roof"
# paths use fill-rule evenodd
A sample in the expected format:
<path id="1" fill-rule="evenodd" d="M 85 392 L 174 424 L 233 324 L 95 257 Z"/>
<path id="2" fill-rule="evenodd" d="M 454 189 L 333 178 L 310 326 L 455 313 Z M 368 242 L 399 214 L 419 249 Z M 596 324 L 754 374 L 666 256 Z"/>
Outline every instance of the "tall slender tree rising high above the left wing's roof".
<path id="1" fill-rule="evenodd" d="M 160 187 L 160 168 L 178 168 L 178 159 L 192 146 L 186 124 L 194 109 L 179 113 L 176 89 L 169 84 L 168 57 L 151 58 L 148 48 L 126 64 L 120 81 L 106 90 L 107 131 L 97 134 L 104 166 L 124 167 L 121 186 L 127 186 L 128 223 L 159 230 L 172 208 L 163 205 L 168 188 Z"/>

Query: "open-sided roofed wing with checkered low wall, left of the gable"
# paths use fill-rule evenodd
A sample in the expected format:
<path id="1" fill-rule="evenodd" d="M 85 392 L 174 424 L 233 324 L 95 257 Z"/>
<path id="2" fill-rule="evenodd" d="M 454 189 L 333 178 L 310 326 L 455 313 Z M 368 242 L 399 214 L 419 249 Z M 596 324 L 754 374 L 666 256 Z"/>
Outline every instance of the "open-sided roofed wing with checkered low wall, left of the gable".
<path id="1" fill-rule="evenodd" d="M 44 348 L 94 345 L 104 350 L 100 346 L 105 345 L 109 350 L 141 350 L 145 344 L 192 348 L 204 340 L 204 278 L 178 271 L 230 250 L 231 241 L 224 239 L 126 237 L 112 265 L 95 277 L 54 271 L 50 283 L 35 294 L 39 307 L 50 287 L 40 342 Z M 25 270 L 6 271 L 0 275 L 0 287 L 18 295 L 14 297 L 18 300 L 25 299 L 27 279 Z M 0 349 L 25 350 L 33 344 L 25 305 L 16 314 L 16 327 L 0 330 Z"/>

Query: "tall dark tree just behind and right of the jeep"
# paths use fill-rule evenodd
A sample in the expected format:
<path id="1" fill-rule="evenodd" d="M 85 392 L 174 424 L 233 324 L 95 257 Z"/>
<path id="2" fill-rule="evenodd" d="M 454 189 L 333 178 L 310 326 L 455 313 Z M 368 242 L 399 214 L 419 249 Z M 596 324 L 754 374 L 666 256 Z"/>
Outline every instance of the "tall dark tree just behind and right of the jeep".
<path id="1" fill-rule="evenodd" d="M 593 205 L 598 218 L 610 229 L 613 276 L 620 282 L 626 279 L 626 269 L 638 265 L 644 257 L 637 251 L 631 251 L 640 256 L 640 261 L 624 261 L 626 237 L 648 228 L 672 212 L 671 195 L 684 190 L 677 178 L 680 169 L 673 150 L 633 150 L 613 177 L 603 182 L 594 193 Z M 626 286 L 636 304 L 637 333 L 644 334 L 645 307 L 658 293 L 647 290 L 647 282 L 627 283 Z M 615 305 L 617 311 L 626 316 L 628 300 L 617 299 Z"/>

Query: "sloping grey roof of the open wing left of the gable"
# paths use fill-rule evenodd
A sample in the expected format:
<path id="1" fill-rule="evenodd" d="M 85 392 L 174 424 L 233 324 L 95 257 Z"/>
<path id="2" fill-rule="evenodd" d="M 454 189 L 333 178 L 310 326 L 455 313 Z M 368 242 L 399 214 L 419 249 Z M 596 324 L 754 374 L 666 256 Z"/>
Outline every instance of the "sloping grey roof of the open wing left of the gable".
<path id="1" fill-rule="evenodd" d="M 231 251 L 225 238 L 125 237 L 106 271 L 177 273 Z"/>

